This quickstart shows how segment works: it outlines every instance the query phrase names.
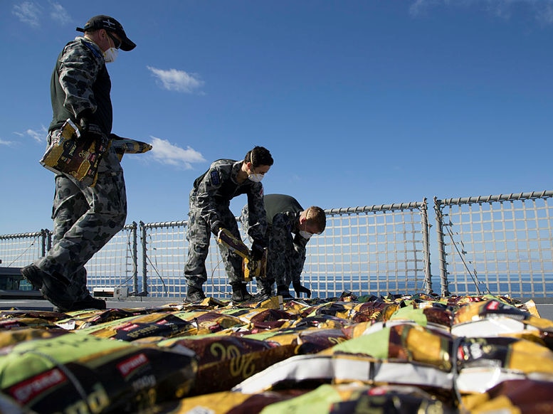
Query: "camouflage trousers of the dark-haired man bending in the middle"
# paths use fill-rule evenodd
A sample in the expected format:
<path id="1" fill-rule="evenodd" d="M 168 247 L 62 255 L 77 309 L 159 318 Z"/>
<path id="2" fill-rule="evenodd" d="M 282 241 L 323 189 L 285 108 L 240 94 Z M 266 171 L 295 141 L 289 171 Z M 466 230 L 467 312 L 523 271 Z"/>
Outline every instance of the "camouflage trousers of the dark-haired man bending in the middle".
<path id="1" fill-rule="evenodd" d="M 188 230 L 186 240 L 188 240 L 188 260 L 184 267 L 184 277 L 186 285 L 201 287 L 207 280 L 206 259 L 209 254 L 209 240 L 211 238 L 211 228 L 205 218 L 201 216 L 201 211 L 196 207 L 195 196 L 190 197 L 190 210 L 188 213 Z M 238 231 L 236 218 L 227 206 L 218 206 L 217 213 L 223 227 L 229 230 L 235 237 L 241 238 Z M 227 248 L 218 245 L 221 258 L 225 265 L 228 282 L 240 282 L 243 280 L 242 258 Z"/>

